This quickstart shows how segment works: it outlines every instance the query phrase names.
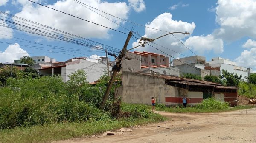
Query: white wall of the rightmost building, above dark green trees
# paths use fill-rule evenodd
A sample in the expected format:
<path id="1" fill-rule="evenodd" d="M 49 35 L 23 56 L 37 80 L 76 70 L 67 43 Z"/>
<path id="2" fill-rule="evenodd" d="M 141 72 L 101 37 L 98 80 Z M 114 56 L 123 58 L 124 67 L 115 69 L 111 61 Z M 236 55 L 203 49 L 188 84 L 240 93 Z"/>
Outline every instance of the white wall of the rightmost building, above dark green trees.
<path id="1" fill-rule="evenodd" d="M 229 64 L 221 64 L 220 74 L 222 75 L 222 70 L 227 70 L 230 73 L 236 73 L 238 76 L 242 75 L 242 79 L 246 80 L 245 77 L 248 76 L 247 68 L 241 67 L 241 70 L 238 69 L 238 66 L 233 66 Z"/>

